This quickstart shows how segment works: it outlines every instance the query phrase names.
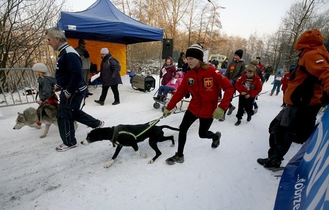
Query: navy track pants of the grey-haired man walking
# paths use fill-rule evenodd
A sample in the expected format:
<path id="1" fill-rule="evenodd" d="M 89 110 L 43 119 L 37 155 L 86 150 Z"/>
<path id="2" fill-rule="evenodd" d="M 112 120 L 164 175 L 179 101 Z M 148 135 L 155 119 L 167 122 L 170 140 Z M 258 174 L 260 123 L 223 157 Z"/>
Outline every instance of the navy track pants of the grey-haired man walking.
<path id="1" fill-rule="evenodd" d="M 57 112 L 57 123 L 61 139 L 67 146 L 77 144 L 74 121 L 92 128 L 99 126 L 99 120 L 96 120 L 89 114 L 80 110 L 82 100 L 83 95 L 79 92 L 73 93 L 68 99 L 65 97 L 63 92 L 60 94 L 60 105 Z"/>

